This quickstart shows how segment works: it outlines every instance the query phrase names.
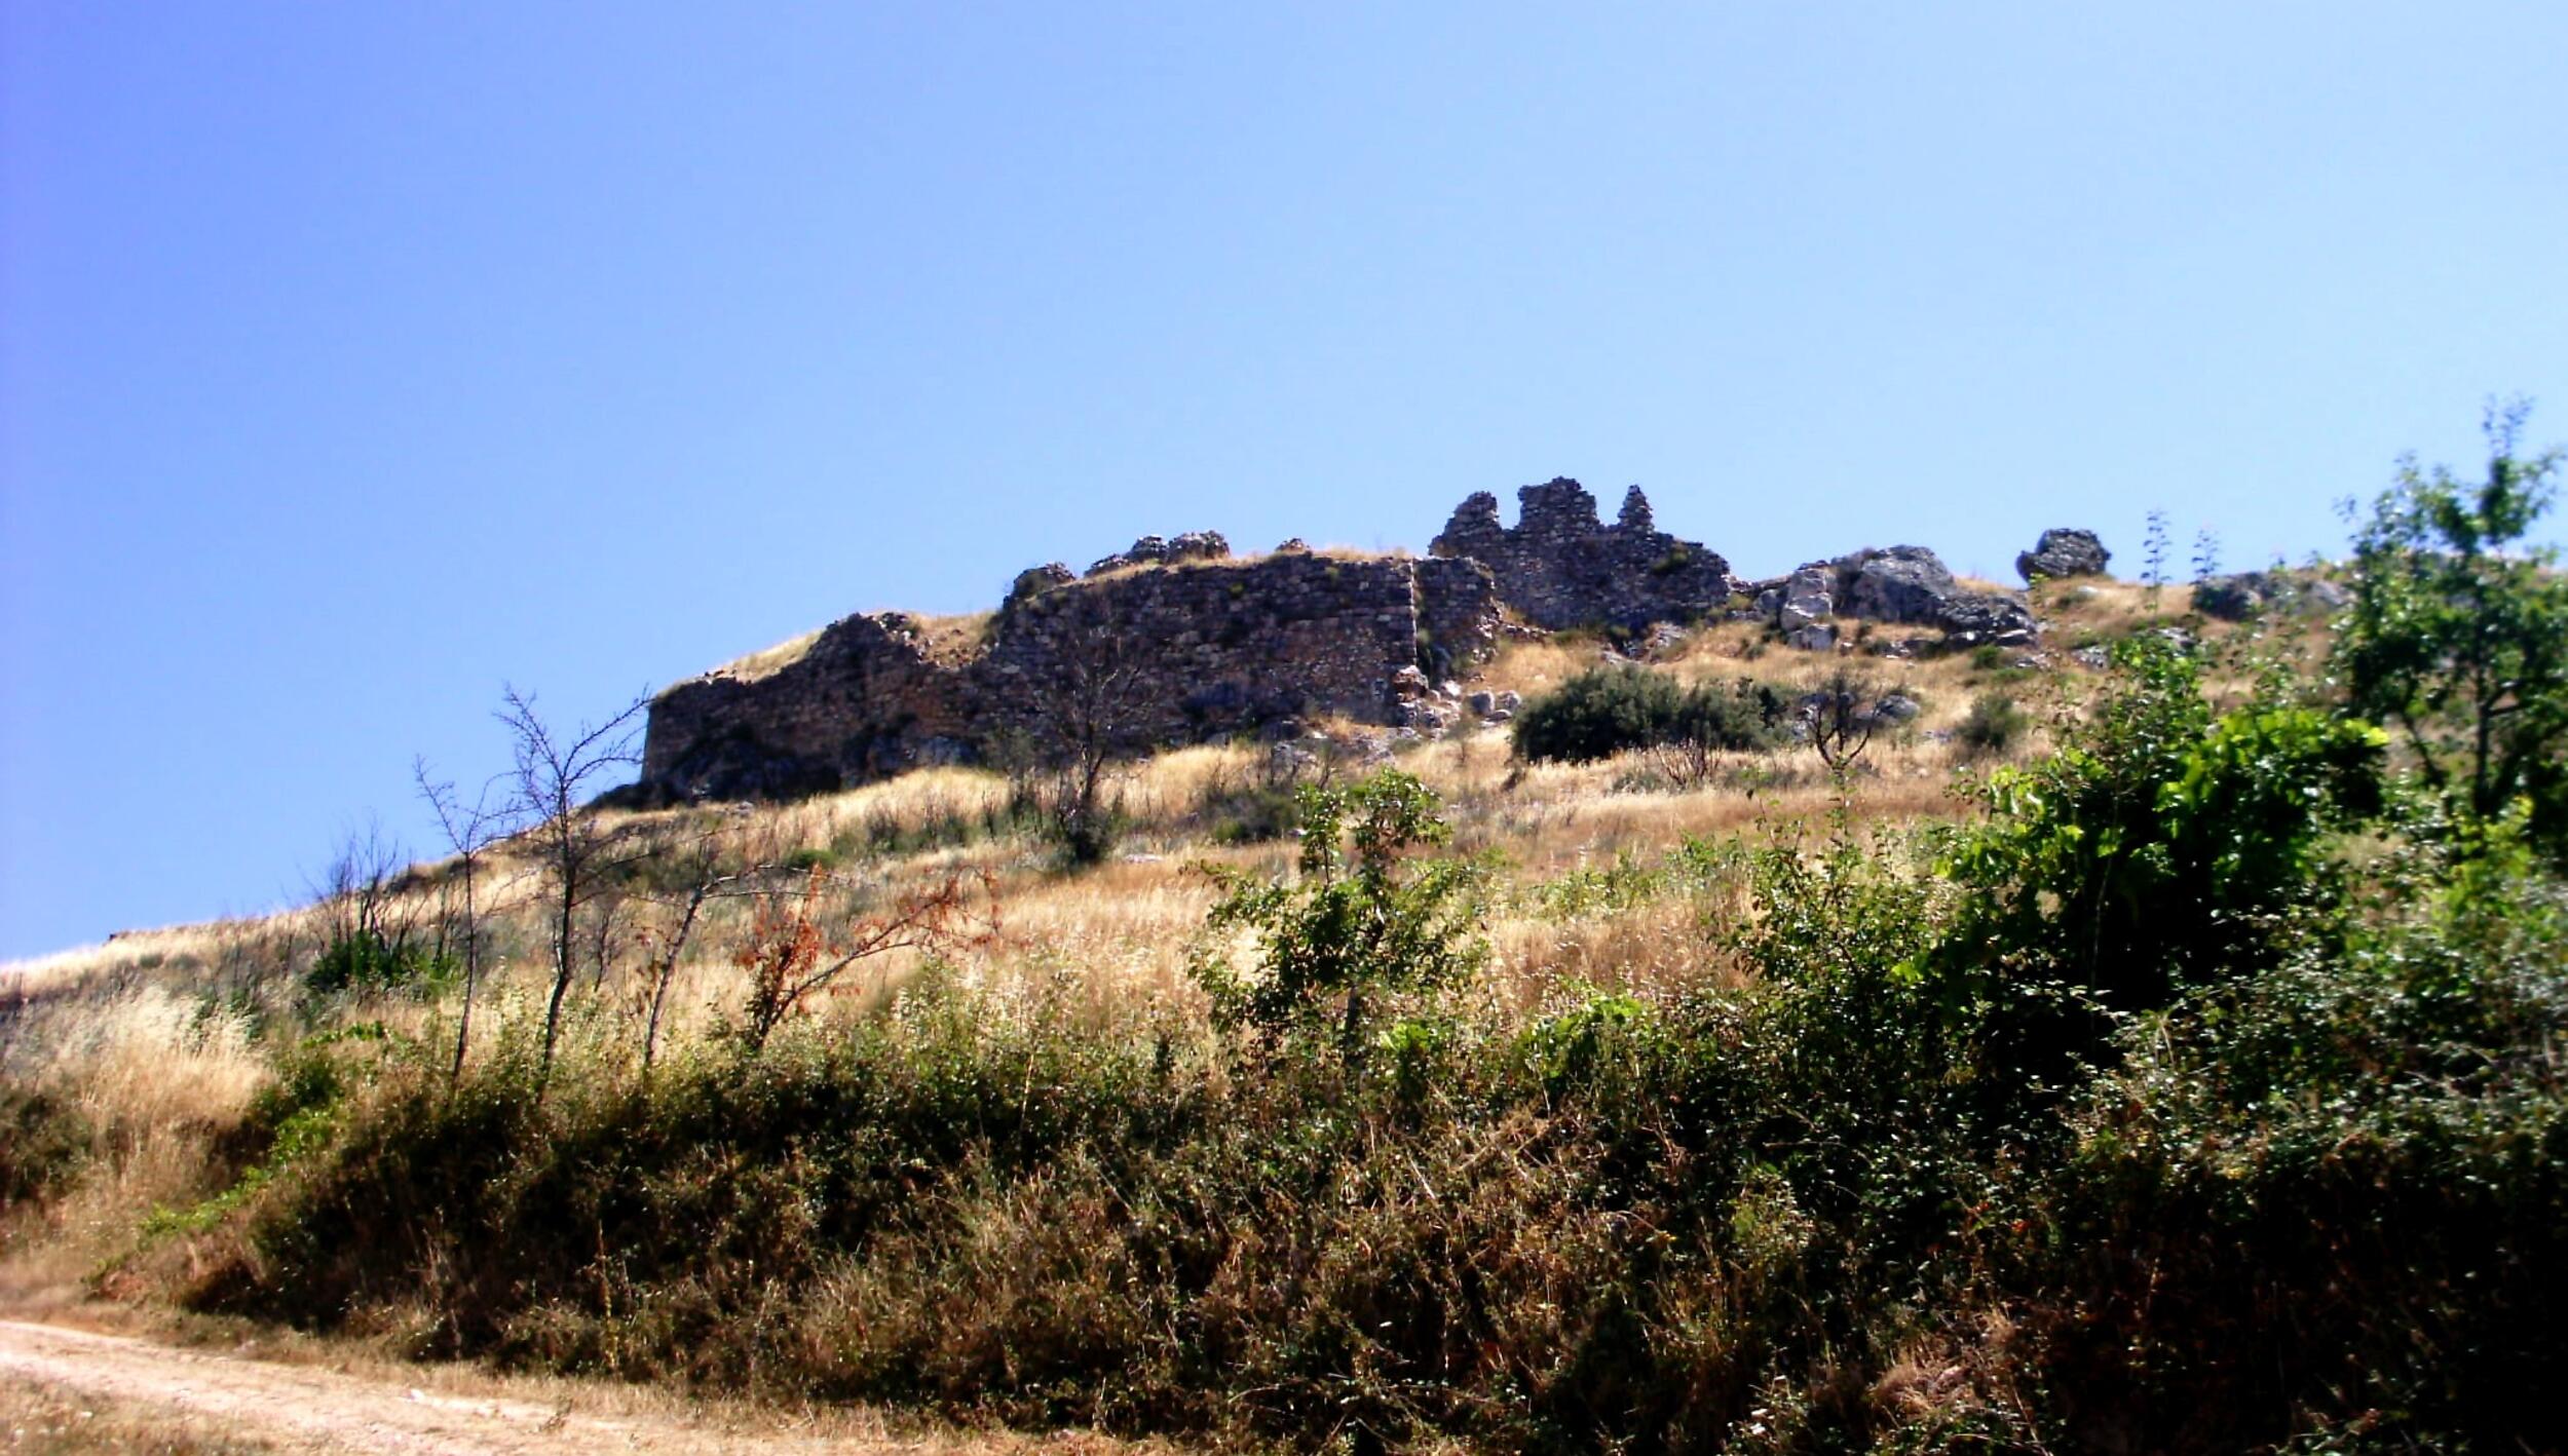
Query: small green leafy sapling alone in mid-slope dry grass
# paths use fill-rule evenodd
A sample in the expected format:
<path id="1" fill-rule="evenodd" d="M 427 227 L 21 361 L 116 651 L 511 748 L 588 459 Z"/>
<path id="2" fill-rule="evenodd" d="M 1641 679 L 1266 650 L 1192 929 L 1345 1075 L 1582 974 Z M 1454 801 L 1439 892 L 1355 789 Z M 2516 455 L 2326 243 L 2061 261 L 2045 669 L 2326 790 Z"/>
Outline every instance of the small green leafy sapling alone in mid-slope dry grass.
<path id="1" fill-rule="evenodd" d="M 1487 955 L 1479 935 L 1487 871 L 1471 860 L 1418 858 L 1451 840 L 1436 793 L 1387 768 L 1348 788 L 1302 786 L 1302 876 L 1258 883 L 1204 865 L 1222 901 L 1207 937 L 1248 930 L 1258 971 L 1230 968 L 1207 942 L 1189 963 L 1222 1027 L 1276 1040 L 1333 1022 L 1356 1061 L 1384 996 L 1459 984 Z"/>

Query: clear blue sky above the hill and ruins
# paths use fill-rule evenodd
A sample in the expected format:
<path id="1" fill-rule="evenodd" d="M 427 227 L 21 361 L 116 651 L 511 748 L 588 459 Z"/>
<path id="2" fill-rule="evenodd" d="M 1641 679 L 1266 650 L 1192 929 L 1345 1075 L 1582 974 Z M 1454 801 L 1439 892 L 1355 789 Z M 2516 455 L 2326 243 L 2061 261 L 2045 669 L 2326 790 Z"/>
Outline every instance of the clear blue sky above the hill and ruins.
<path id="1" fill-rule="evenodd" d="M 2568 8 L 0 0 L 0 955 L 860 609 L 1577 475 L 1744 573 L 2568 439 Z"/>

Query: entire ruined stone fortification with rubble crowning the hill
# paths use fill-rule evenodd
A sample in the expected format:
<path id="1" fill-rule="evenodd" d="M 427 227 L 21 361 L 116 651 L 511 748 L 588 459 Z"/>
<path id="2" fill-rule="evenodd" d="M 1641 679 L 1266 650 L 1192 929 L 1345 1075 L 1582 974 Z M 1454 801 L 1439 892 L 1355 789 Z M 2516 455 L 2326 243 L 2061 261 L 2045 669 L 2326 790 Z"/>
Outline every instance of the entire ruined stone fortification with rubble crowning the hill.
<path id="1" fill-rule="evenodd" d="M 1112 752 L 1292 729 L 1338 716 L 1405 734 L 1505 722 L 1513 693 L 1456 678 L 1507 634 L 1762 616 L 1787 642 L 1839 647 L 1839 619 L 1936 627 L 1949 645 L 2029 642 L 2011 593 L 1962 591 L 1923 547 L 1857 552 L 1746 583 L 1700 542 L 1656 529 L 1633 485 L 1613 524 L 1577 480 L 1466 498 L 1428 557 L 1233 557 L 1217 532 L 1143 537 L 1073 573 L 1017 575 L 963 624 L 847 616 L 660 693 L 637 804 L 791 799 L 927 763 L 999 760 L 1091 737 Z M 2044 539 L 2049 544 L 2049 537 Z M 1754 606 L 1749 606 L 1754 601 Z"/>

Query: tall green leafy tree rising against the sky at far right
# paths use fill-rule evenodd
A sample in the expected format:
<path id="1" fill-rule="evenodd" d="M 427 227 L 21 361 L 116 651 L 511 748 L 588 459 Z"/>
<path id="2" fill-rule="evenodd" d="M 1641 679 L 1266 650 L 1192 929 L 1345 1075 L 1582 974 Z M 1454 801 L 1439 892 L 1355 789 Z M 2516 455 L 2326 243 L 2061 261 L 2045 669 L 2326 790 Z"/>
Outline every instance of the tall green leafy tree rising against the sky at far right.
<path id="1" fill-rule="evenodd" d="M 2519 455 L 2527 408 L 2491 406 L 2488 478 L 2399 467 L 2355 524 L 2355 601 L 2337 634 L 2350 706 L 2401 734 L 2419 778 L 2465 822 L 2529 801 L 2568 845 L 2568 580 L 2527 544 L 2560 452 Z M 2352 503 L 2347 503 L 2352 516 Z"/>

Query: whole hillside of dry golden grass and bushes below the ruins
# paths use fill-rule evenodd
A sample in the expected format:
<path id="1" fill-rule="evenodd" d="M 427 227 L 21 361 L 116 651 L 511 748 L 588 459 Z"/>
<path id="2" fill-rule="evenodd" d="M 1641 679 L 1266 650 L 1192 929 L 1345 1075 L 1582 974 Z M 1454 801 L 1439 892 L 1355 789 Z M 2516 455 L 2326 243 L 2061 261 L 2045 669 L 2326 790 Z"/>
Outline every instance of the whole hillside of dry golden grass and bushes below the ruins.
<path id="1" fill-rule="evenodd" d="M 1086 855 L 1037 768 L 360 855 L 0 981 L 5 1269 L 1243 1448 L 2560 1448 L 2545 475 L 2334 614 L 1515 642 L 1520 740 L 1166 752 Z"/>

